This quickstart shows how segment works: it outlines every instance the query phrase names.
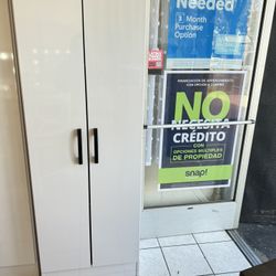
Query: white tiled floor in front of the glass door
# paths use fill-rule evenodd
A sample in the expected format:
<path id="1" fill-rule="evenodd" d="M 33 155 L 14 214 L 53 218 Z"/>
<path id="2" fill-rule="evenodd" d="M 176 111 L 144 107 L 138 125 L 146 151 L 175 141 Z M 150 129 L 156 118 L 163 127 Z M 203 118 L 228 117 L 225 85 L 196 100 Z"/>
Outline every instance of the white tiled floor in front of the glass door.
<path id="1" fill-rule="evenodd" d="M 248 267 L 224 231 L 140 241 L 139 276 L 238 276 Z"/>

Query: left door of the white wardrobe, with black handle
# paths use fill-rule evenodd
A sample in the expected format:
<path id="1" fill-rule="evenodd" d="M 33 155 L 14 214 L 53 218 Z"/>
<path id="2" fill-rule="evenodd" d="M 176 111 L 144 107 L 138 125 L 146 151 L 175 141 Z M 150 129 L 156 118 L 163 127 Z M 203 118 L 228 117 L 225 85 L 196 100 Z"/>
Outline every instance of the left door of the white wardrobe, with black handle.
<path id="1" fill-rule="evenodd" d="M 82 4 L 13 0 L 13 12 L 42 273 L 88 267 Z"/>

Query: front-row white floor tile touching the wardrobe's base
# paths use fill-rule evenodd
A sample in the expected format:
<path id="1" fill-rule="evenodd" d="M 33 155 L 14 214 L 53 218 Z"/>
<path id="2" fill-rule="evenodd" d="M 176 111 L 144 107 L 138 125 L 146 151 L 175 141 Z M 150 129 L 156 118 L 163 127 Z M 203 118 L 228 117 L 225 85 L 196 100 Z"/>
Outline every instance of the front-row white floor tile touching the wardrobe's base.
<path id="1" fill-rule="evenodd" d="M 139 276 L 169 276 L 160 248 L 141 250 Z"/>

